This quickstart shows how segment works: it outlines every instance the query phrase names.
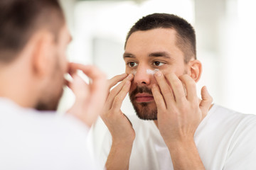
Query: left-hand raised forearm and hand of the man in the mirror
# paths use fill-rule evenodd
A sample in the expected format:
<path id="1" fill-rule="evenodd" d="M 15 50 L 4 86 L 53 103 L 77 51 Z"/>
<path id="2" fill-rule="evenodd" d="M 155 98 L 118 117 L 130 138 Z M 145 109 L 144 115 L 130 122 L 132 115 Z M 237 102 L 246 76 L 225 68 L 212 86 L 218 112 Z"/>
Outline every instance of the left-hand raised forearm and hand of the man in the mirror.
<path id="1" fill-rule="evenodd" d="M 110 88 L 124 78 L 124 76 L 120 75 L 110 79 Z M 127 96 L 132 79 L 133 75 L 129 74 L 126 79 L 110 91 L 101 115 L 112 135 L 112 147 L 106 163 L 107 169 L 129 169 L 129 158 L 132 152 L 135 132 L 120 108 L 122 101 Z"/>

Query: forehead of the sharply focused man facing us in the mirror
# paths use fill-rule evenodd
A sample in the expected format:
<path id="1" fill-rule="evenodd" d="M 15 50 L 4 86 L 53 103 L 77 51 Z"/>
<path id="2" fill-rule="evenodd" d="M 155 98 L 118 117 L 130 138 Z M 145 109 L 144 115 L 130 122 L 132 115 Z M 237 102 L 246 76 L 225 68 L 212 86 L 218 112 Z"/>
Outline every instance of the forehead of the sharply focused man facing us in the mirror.
<path id="1" fill-rule="evenodd" d="M 154 28 L 139 30 L 128 38 L 123 57 L 166 57 L 176 54 L 180 49 L 176 45 L 174 28 Z"/>

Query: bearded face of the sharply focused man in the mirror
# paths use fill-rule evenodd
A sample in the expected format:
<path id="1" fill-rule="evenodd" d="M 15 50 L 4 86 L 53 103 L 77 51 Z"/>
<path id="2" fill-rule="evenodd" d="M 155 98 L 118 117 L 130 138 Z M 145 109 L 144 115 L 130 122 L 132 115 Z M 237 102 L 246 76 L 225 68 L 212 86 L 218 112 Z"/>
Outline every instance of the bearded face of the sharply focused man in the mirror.
<path id="1" fill-rule="evenodd" d="M 183 52 L 176 45 L 176 31 L 156 28 L 132 33 L 127 40 L 124 61 L 126 72 L 134 74 L 129 97 L 137 115 L 144 120 L 156 120 L 157 108 L 151 87 L 157 82 L 151 73 L 155 69 L 177 76 L 186 73 Z"/>

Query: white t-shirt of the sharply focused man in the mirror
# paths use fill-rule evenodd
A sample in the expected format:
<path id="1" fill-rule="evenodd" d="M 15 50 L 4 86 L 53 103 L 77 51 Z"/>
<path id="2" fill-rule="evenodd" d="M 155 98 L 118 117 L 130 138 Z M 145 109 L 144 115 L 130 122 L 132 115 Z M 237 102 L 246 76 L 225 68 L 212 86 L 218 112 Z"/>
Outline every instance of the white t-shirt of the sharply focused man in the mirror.
<path id="1" fill-rule="evenodd" d="M 152 120 L 129 116 L 136 132 L 129 169 L 174 169 L 169 149 Z M 97 125 L 92 131 L 95 139 Z M 111 135 L 106 130 L 102 141 L 97 141 L 95 156 L 104 166 L 111 147 Z M 206 169 L 256 169 L 256 116 L 236 113 L 213 105 L 198 126 L 194 140 Z M 100 146 L 101 145 L 101 146 Z"/>

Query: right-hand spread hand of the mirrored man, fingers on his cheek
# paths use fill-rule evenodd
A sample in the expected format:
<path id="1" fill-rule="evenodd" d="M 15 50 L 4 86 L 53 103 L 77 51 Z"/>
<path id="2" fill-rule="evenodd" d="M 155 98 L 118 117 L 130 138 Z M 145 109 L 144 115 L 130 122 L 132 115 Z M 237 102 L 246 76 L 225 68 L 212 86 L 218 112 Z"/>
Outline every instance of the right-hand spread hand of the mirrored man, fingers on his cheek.
<path id="1" fill-rule="evenodd" d="M 206 88 L 202 89 L 203 100 L 199 105 L 196 82 L 187 74 L 178 79 L 176 74 L 167 74 L 165 78 L 161 72 L 157 72 L 156 81 L 160 89 L 154 86 L 152 93 L 158 111 L 158 127 L 164 141 L 169 145 L 172 143 L 175 145 L 176 142 L 193 139 L 196 128 L 208 112 L 212 102 Z"/>

